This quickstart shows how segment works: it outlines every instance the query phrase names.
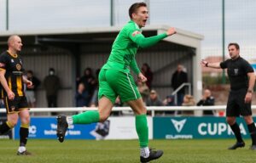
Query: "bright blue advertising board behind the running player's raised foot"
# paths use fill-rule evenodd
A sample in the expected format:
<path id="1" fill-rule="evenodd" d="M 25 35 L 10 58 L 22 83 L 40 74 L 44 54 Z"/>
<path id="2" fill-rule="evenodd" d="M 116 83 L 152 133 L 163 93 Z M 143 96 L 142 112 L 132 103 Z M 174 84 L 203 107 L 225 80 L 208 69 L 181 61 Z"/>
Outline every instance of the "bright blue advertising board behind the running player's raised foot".
<path id="1" fill-rule="evenodd" d="M 56 119 L 51 117 L 32 117 L 29 127 L 29 138 L 56 138 Z M 72 125 L 66 132 L 67 139 L 96 139 L 91 132 L 95 131 L 96 123 L 90 125 Z M 20 138 L 20 121 L 15 126 L 15 139 Z"/>

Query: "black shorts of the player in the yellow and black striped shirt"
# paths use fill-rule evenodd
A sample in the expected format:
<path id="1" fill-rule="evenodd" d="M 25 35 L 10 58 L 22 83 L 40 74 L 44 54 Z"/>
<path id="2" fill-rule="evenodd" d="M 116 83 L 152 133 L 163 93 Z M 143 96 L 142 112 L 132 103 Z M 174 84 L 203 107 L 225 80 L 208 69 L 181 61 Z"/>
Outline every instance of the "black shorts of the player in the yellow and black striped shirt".
<path id="1" fill-rule="evenodd" d="M 8 97 L 4 97 L 3 100 L 7 114 L 28 109 L 28 104 L 25 96 L 15 96 L 15 99 L 13 100 L 9 100 Z"/>

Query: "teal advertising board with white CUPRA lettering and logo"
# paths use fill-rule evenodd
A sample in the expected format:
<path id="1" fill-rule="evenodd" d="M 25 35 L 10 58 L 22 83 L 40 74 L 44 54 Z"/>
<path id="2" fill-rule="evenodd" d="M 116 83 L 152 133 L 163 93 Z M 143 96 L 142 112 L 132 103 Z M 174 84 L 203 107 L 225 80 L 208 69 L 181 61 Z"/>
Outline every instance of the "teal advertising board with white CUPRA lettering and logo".
<path id="1" fill-rule="evenodd" d="M 245 121 L 236 120 L 242 137 L 250 138 Z M 153 138 L 234 138 L 234 135 L 225 117 L 154 117 Z"/>

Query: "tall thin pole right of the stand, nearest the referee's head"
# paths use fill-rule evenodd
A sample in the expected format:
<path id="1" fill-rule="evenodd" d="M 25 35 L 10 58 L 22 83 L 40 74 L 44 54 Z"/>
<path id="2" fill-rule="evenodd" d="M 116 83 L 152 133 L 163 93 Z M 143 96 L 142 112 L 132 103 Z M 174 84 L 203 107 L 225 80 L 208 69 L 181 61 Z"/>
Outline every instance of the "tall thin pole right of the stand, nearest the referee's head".
<path id="1" fill-rule="evenodd" d="M 222 0 L 222 60 L 225 59 L 225 0 Z M 222 70 L 222 83 L 226 83 L 225 71 Z"/>

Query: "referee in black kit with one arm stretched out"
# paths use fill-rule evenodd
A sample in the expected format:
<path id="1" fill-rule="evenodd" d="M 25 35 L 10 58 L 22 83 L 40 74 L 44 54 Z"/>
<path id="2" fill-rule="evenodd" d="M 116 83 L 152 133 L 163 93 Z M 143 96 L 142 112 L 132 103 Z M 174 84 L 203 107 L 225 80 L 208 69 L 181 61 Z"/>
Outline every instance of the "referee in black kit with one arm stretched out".
<path id="1" fill-rule="evenodd" d="M 256 127 L 253 122 L 251 109 L 255 83 L 253 67 L 247 60 L 240 57 L 239 45 L 237 43 L 230 43 L 228 49 L 230 59 L 221 63 L 208 63 L 206 60 L 202 60 L 201 65 L 215 69 L 228 69 L 230 95 L 226 109 L 226 121 L 236 136 L 236 143 L 229 149 L 237 149 L 245 146 L 241 138 L 240 128 L 236 123 L 236 117 L 242 115 L 252 138 L 250 149 L 256 150 Z"/>

